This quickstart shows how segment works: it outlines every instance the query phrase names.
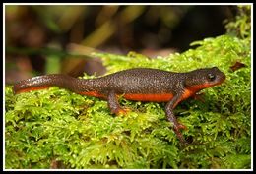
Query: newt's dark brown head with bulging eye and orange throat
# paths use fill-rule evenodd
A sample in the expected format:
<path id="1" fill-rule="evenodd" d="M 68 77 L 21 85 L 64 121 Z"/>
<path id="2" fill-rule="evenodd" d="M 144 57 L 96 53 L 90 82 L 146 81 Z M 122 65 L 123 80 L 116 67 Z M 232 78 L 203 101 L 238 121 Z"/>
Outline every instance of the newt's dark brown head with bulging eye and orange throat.
<path id="1" fill-rule="evenodd" d="M 224 73 L 217 67 L 197 69 L 188 74 L 185 86 L 194 91 L 220 85 L 225 80 Z"/>

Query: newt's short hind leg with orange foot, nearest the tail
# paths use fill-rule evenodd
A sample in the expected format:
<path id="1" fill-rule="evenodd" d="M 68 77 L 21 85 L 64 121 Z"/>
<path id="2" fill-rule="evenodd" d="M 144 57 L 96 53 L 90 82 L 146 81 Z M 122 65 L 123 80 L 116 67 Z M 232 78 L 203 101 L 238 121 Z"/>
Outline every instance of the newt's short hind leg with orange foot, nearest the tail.
<path id="1" fill-rule="evenodd" d="M 119 115 L 119 114 L 125 114 L 127 112 L 126 109 L 123 109 L 120 106 L 118 102 L 118 96 L 113 90 L 111 90 L 107 95 L 107 103 L 112 114 Z"/>

